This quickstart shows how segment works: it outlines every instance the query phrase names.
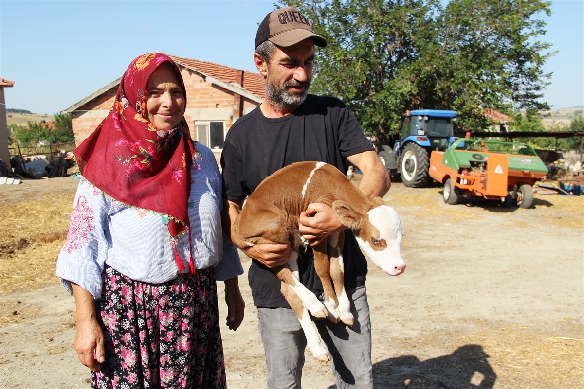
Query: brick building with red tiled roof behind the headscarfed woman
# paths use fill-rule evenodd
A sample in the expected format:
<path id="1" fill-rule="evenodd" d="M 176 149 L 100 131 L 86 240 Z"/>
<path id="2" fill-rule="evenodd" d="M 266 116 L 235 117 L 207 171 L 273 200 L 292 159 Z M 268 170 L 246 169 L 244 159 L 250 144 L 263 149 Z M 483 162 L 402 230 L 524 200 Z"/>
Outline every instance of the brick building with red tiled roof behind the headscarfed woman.
<path id="1" fill-rule="evenodd" d="M 211 62 L 169 57 L 179 65 L 185 80 L 185 119 L 191 136 L 213 150 L 218 161 L 231 125 L 262 103 L 265 96 L 263 76 Z M 107 116 L 119 84 L 120 79 L 117 79 L 63 111 L 72 114 L 77 146 Z"/>

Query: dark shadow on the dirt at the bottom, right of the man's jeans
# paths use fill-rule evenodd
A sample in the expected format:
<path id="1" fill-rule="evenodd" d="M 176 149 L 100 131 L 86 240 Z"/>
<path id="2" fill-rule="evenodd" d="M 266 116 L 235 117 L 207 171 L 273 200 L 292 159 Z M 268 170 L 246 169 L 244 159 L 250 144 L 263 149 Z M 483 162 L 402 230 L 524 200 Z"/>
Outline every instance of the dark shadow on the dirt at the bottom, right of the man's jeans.
<path id="1" fill-rule="evenodd" d="M 496 374 L 480 345 L 465 345 L 450 355 L 420 361 L 405 355 L 373 365 L 376 388 L 492 388 Z"/>

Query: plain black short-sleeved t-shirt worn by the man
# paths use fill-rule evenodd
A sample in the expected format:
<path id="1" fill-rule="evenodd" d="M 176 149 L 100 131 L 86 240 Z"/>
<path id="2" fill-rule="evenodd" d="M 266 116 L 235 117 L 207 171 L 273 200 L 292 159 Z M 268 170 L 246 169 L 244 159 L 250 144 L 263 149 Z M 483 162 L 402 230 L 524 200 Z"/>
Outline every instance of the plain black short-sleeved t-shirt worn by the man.
<path id="1" fill-rule="evenodd" d="M 293 113 L 266 118 L 260 107 L 239 118 L 225 138 L 221 167 L 225 196 L 231 201 L 245 199 L 264 178 L 294 162 L 326 162 L 345 173 L 346 157 L 374 150 L 353 113 L 339 99 L 308 94 Z M 367 261 L 359 244 L 345 230 L 343 248 L 345 288 L 365 284 Z M 314 270 L 314 254 L 309 246 L 298 258 L 300 281 L 315 295 L 322 283 Z M 280 279 L 253 260 L 249 286 L 257 307 L 290 307 L 280 292 Z"/>

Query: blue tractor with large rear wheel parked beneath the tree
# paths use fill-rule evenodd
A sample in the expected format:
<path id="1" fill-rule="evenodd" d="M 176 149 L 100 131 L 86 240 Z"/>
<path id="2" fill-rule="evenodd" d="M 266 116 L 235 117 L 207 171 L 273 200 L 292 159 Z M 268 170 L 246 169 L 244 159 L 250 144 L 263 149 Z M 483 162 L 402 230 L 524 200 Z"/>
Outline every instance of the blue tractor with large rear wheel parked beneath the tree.
<path id="1" fill-rule="evenodd" d="M 394 147 L 383 145 L 377 155 L 392 177 L 398 174 L 406 187 L 421 188 L 429 181 L 430 153 L 446 150 L 454 137 L 455 111 L 406 111 L 400 118 L 401 138 Z"/>

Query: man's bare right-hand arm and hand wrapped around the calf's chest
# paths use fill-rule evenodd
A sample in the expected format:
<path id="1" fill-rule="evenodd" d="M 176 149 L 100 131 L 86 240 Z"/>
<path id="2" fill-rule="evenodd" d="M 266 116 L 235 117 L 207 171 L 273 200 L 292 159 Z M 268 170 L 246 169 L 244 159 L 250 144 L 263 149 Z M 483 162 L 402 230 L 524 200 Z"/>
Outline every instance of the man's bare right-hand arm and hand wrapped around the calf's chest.
<path id="1" fill-rule="evenodd" d="M 363 177 L 359 190 L 367 198 L 383 197 L 391 187 L 390 175 L 373 150 L 353 154 L 347 160 L 357 166 Z M 300 214 L 298 230 L 308 240 L 310 246 L 321 243 L 322 239 L 345 229 L 336 219 L 332 208 L 325 204 L 309 204 L 308 209 Z"/>

